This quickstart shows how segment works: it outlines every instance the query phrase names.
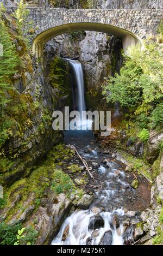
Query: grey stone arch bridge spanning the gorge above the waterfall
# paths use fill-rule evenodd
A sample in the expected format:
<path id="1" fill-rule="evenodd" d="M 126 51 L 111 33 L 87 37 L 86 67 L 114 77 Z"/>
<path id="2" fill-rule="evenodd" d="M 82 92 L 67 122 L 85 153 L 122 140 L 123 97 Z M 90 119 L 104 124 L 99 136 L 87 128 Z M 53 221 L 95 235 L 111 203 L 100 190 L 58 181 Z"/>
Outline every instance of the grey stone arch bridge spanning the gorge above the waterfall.
<path id="1" fill-rule="evenodd" d="M 122 37 L 123 49 L 136 44 L 147 34 L 156 34 L 163 9 L 54 9 L 28 8 L 33 22 L 33 52 L 42 57 L 45 43 L 70 31 L 98 31 Z"/>

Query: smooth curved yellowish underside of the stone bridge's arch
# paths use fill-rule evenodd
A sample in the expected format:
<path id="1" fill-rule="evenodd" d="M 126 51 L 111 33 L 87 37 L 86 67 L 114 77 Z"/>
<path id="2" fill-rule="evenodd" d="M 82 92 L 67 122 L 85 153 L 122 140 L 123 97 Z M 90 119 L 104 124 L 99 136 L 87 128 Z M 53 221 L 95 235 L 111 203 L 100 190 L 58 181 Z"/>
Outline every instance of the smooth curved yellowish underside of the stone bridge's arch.
<path id="1" fill-rule="evenodd" d="M 141 41 L 136 35 L 120 27 L 91 22 L 69 23 L 46 29 L 42 33 L 38 34 L 33 40 L 32 49 L 34 54 L 38 58 L 43 57 L 43 46 L 47 43 L 47 41 L 56 37 L 57 35 L 74 31 L 97 31 L 115 35 L 116 37 L 121 37 L 123 42 L 123 50 L 125 53 L 127 53 L 127 47 L 129 45 L 135 45 Z"/>

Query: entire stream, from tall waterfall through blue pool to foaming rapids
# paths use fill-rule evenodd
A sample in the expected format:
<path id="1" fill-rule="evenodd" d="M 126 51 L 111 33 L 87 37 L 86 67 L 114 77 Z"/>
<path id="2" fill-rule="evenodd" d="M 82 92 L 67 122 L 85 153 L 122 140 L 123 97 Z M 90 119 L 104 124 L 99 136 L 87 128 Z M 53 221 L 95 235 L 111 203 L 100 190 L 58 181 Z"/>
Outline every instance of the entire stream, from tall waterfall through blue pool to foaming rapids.
<path id="1" fill-rule="evenodd" d="M 86 108 L 82 65 L 78 61 L 70 61 L 70 64 L 77 80 L 78 106 L 81 112 Z M 133 227 L 126 229 L 121 222 L 126 214 L 123 209 L 127 201 L 124 192 L 130 187 L 125 180 L 122 165 L 111 158 L 104 161 L 107 156 L 99 150 L 90 130 L 66 131 L 65 143 L 76 146 L 87 163 L 93 161 L 98 164 L 96 171 L 101 175 L 103 183 L 94 194 L 88 210 L 77 209 L 66 218 L 52 245 L 123 245 L 124 240 L 130 240 L 133 236 Z M 119 223 L 115 221 L 115 216 L 120 219 Z M 137 219 L 138 216 L 134 221 Z"/>

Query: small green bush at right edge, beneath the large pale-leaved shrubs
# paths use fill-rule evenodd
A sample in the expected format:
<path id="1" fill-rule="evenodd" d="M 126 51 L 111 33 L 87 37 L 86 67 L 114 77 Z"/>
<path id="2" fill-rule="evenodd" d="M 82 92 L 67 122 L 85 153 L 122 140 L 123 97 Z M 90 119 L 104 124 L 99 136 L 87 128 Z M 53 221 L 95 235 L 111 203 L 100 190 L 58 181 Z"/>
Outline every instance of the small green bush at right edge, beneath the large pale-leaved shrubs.
<path id="1" fill-rule="evenodd" d="M 163 102 L 156 105 L 156 108 L 152 111 L 151 128 L 155 128 L 161 123 L 163 123 Z"/>

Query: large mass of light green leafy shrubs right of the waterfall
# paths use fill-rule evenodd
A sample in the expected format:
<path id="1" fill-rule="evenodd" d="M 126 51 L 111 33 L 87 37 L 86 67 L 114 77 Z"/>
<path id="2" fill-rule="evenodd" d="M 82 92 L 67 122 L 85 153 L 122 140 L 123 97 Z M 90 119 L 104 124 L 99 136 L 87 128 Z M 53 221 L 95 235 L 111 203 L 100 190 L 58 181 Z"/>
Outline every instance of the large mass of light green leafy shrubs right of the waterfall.
<path id="1" fill-rule="evenodd" d="M 126 109 L 126 120 L 134 122 L 135 134 L 142 141 L 149 129 L 160 129 L 163 121 L 163 30 L 141 45 L 129 49 L 120 74 L 109 76 L 103 86 L 107 102 L 119 102 Z M 138 133 L 137 133 L 138 132 Z"/>

